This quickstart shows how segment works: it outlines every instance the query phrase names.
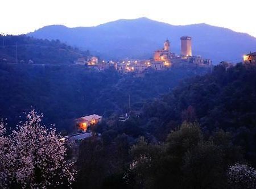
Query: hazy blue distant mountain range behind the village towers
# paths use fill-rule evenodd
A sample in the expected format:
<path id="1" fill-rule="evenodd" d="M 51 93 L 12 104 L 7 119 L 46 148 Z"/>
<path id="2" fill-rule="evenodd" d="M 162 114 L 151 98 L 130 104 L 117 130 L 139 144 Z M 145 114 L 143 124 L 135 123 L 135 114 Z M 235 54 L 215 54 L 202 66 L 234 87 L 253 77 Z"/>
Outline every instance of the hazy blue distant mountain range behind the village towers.
<path id="1" fill-rule="evenodd" d="M 147 18 L 117 20 L 96 27 L 68 28 L 46 26 L 28 33 L 42 39 L 59 39 L 69 45 L 90 49 L 102 58 L 150 58 L 164 40 L 171 41 L 171 51 L 180 54 L 180 36 L 193 38 L 192 53 L 214 62 L 242 59 L 242 54 L 256 51 L 256 38 L 227 28 L 208 24 L 173 26 Z"/>

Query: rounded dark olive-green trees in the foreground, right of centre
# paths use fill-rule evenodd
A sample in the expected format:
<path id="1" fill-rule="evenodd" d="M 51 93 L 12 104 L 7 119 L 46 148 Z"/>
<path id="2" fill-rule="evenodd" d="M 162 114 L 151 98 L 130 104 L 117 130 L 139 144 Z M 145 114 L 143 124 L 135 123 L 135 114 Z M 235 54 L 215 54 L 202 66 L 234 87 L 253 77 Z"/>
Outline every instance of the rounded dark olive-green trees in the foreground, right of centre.
<path id="1" fill-rule="evenodd" d="M 241 160 L 228 133 L 206 140 L 198 123 L 184 122 L 163 145 L 141 138 L 131 148 L 129 182 L 138 188 L 226 188 L 229 163 Z M 132 180 L 132 179 L 133 180 Z"/>

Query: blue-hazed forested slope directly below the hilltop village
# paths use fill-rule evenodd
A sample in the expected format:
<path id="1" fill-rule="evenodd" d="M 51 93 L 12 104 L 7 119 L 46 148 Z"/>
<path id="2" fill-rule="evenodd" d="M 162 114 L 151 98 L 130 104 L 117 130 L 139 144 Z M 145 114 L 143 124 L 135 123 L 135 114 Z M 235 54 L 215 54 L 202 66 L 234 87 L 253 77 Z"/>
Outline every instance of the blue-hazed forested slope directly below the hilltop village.
<path id="1" fill-rule="evenodd" d="M 80 65 L 0 64 L 0 115 L 15 125 L 30 107 L 44 115 L 46 123 L 72 131 L 78 117 L 99 114 L 115 117 L 129 104 L 141 111 L 148 99 L 157 98 L 184 78 L 209 72 L 205 68 L 177 68 L 148 72 L 143 77 L 121 74 L 113 68 L 98 72 Z"/>

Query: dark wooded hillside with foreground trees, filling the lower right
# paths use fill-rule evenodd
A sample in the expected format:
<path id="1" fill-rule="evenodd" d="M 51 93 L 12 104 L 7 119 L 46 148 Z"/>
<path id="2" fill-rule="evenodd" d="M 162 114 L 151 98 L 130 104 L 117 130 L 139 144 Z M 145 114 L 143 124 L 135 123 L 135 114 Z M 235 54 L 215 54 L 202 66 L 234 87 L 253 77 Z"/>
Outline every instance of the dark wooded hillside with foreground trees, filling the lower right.
<path id="1" fill-rule="evenodd" d="M 92 128 L 102 137 L 80 145 L 74 187 L 254 188 L 230 166 L 256 166 L 255 84 L 256 66 L 222 63 L 144 103 L 139 117 L 103 121 Z"/>

